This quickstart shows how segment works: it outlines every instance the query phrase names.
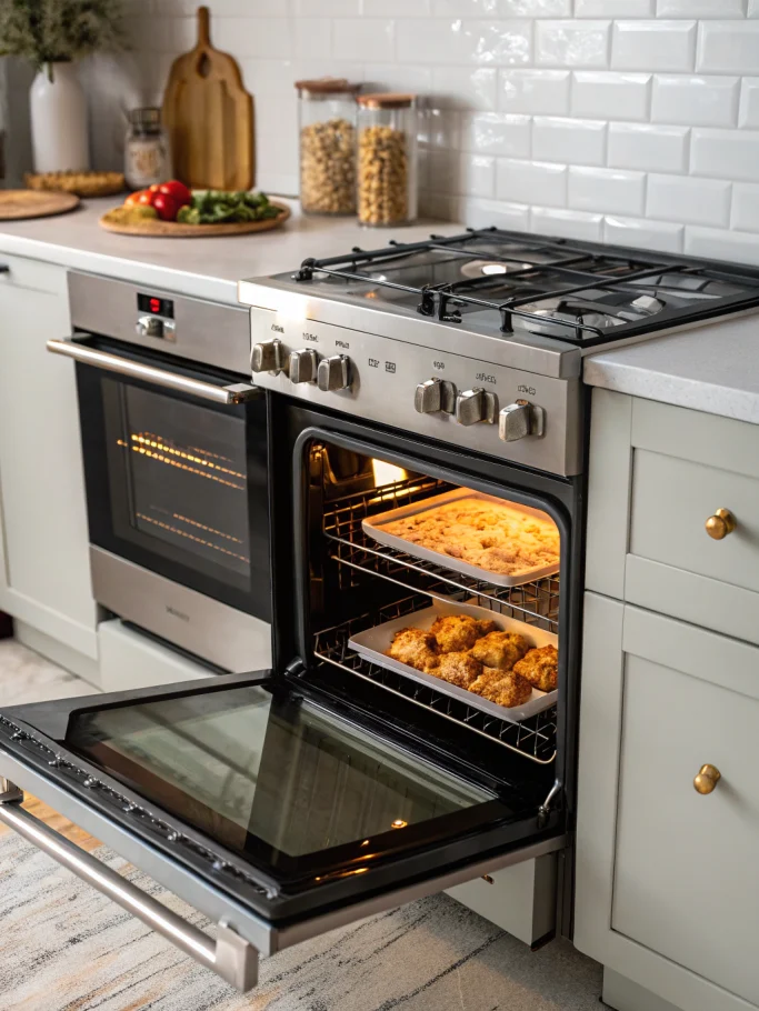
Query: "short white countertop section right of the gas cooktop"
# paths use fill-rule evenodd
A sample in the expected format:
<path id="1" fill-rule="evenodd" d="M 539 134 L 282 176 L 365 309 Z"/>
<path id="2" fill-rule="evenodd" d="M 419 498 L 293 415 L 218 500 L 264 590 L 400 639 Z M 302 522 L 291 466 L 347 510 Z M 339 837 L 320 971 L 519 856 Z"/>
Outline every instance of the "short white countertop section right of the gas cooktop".
<path id="1" fill-rule="evenodd" d="M 593 387 L 759 424 L 759 313 L 585 360 Z"/>

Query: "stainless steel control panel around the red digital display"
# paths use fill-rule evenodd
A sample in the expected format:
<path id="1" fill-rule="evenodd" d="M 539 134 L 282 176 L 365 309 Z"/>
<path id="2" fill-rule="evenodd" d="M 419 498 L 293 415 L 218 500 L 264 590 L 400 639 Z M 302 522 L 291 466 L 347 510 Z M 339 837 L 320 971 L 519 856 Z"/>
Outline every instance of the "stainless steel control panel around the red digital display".
<path id="1" fill-rule="evenodd" d="M 69 272 L 68 281 L 72 327 L 250 374 L 250 332 L 244 309 L 76 271 Z M 138 332 L 138 322 L 144 317 L 144 310 L 137 307 L 138 293 L 173 301 L 171 340 Z"/>

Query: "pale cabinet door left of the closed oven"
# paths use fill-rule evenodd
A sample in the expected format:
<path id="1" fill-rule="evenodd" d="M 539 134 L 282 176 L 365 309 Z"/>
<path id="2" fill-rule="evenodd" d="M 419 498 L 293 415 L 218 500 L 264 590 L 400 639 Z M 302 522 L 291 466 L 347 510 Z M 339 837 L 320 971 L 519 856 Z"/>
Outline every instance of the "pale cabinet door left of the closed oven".
<path id="1" fill-rule="evenodd" d="M 46 351 L 69 329 L 66 271 L 14 259 L 0 284 L 0 602 L 96 658 L 73 364 Z"/>

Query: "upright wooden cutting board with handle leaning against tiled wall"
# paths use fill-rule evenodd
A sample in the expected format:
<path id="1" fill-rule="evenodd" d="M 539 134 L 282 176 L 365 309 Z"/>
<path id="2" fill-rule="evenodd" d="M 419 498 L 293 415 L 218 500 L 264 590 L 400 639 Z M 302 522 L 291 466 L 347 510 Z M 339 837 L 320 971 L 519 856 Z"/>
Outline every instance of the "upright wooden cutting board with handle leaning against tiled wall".
<path id="1" fill-rule="evenodd" d="M 173 170 L 191 189 L 249 190 L 256 182 L 253 100 L 237 61 L 211 46 L 198 8 L 198 43 L 178 57 L 163 96 Z"/>

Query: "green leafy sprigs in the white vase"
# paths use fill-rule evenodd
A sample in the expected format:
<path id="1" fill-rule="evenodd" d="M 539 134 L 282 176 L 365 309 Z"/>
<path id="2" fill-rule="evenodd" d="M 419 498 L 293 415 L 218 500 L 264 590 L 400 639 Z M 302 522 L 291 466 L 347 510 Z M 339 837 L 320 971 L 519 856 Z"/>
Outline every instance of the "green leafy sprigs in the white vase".
<path id="1" fill-rule="evenodd" d="M 0 56 L 37 70 L 123 42 L 121 0 L 0 0 Z"/>

